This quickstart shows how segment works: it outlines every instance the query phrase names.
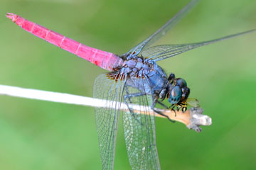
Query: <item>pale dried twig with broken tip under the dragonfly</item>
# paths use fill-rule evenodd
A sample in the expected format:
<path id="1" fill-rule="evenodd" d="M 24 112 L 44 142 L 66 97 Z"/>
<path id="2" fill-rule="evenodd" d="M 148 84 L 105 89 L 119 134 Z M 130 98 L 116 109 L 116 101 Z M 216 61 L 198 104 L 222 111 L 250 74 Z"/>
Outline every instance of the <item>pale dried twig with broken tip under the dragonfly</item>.
<path id="1" fill-rule="evenodd" d="M 82 106 L 110 108 L 110 106 L 107 106 L 107 103 L 110 103 L 109 101 L 98 98 L 89 98 L 85 96 L 63 94 L 51 91 L 41 91 L 36 89 L 25 89 L 16 86 L 0 85 L 0 95 L 31 98 L 43 101 L 53 101 L 58 103 L 69 103 Z M 128 110 L 127 106 L 124 103 L 120 103 L 120 106 L 123 111 Z M 141 108 L 143 107 L 133 105 L 132 108 L 135 113 L 144 113 L 144 111 L 141 110 Z M 203 108 L 190 108 L 185 113 L 182 113 L 181 111 L 174 113 L 174 111 L 160 108 L 156 108 L 156 110 L 168 115 L 169 118 L 171 118 L 172 120 L 176 120 L 185 124 L 187 128 L 196 130 L 196 132 L 201 132 L 201 128 L 199 127 L 200 125 L 211 125 L 211 118 L 208 115 L 202 114 Z M 153 115 L 153 111 L 150 108 L 147 108 L 147 111 L 151 112 Z M 159 114 L 155 115 L 161 118 L 165 118 Z"/>

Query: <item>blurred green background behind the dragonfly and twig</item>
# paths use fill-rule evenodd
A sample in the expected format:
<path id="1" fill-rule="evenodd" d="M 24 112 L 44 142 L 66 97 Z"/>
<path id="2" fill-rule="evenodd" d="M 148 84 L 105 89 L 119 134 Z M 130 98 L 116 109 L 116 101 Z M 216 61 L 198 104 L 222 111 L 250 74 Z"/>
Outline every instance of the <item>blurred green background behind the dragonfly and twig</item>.
<path id="1" fill-rule="evenodd" d="M 1 0 L 0 84 L 92 96 L 95 65 L 26 33 L 17 13 L 117 54 L 153 33 L 188 1 Z M 255 0 L 201 1 L 158 44 L 198 42 L 256 28 Z M 183 77 L 213 125 L 203 132 L 156 118 L 162 169 L 255 169 L 256 33 L 159 62 Z M 94 109 L 0 96 L 0 169 L 101 169 Z M 119 123 L 114 169 L 130 169 Z"/>

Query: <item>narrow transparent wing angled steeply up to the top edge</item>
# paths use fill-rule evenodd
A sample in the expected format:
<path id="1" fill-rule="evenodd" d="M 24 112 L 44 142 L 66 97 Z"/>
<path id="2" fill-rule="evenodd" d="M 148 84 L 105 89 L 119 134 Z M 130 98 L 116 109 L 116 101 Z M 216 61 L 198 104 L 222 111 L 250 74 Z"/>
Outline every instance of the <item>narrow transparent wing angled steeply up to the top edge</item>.
<path id="1" fill-rule="evenodd" d="M 195 6 L 198 1 L 199 0 L 191 0 L 191 2 L 188 3 L 185 7 L 183 7 L 181 11 L 179 11 L 173 18 L 167 21 L 167 23 L 165 23 L 164 26 L 159 28 L 159 30 L 156 30 L 156 32 L 150 35 L 148 38 L 146 38 L 146 40 L 140 42 L 137 46 L 129 50 L 129 52 L 126 55 L 138 55 L 139 52 L 141 52 L 144 47 L 149 47 L 149 45 L 159 40 L 169 30 L 171 30 L 171 28 L 173 28 L 176 25 L 176 23 L 178 23 L 178 21 L 180 21 L 181 18 L 183 18 L 183 16 L 185 16 L 186 13 L 188 13 L 188 11 L 191 8 L 193 8 L 193 6 Z"/>

